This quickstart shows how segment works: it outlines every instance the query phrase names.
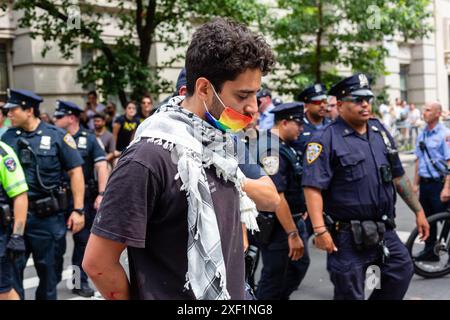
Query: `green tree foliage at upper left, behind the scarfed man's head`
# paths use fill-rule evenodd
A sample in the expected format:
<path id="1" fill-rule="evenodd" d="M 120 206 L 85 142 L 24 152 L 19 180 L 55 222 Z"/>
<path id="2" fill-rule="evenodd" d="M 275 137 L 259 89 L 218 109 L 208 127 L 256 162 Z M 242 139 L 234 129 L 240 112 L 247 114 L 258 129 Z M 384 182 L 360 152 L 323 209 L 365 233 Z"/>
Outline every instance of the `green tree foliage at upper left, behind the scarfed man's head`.
<path id="1" fill-rule="evenodd" d="M 15 0 L 13 9 L 23 12 L 20 27 L 29 28 L 32 37 L 45 41 L 43 55 L 55 44 L 65 58 L 71 58 L 80 44 L 98 52 L 78 70 L 79 82 L 85 87 L 95 82 L 104 95 L 118 95 L 125 104 L 129 98 L 137 99 L 146 92 L 157 95 L 172 91 L 172 84 L 160 77 L 160 71 L 182 57 L 150 65 L 154 43 L 162 42 L 165 50 L 175 52 L 186 46 L 193 25 L 214 16 L 251 23 L 261 14 L 262 7 L 255 2 Z M 112 44 L 103 37 L 105 27 L 111 23 L 121 31 Z"/>

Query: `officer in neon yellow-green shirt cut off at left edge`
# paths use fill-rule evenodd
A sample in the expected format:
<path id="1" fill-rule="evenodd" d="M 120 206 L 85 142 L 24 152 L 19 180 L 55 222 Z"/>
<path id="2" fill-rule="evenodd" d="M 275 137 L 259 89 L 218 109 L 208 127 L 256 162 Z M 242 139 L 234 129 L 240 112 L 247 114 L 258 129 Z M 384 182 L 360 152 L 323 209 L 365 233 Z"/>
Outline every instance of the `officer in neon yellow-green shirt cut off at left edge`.
<path id="1" fill-rule="evenodd" d="M 25 253 L 28 186 L 14 150 L 4 142 L 0 142 L 0 161 L 0 300 L 18 300 L 13 288 L 13 263 Z M 14 225 L 10 235 L 12 212 Z"/>

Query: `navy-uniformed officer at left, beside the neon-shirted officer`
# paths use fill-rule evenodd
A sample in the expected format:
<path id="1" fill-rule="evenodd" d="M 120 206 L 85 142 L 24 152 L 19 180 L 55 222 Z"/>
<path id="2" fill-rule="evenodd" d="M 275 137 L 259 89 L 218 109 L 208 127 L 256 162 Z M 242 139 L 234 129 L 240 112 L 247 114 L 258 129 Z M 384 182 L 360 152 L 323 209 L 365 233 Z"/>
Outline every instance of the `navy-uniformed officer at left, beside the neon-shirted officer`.
<path id="1" fill-rule="evenodd" d="M 8 90 L 4 108 L 14 128 L 2 140 L 14 148 L 25 171 L 29 187 L 29 214 L 25 229 L 26 254 L 16 263 L 15 280 L 23 299 L 23 271 L 30 253 L 39 277 L 36 299 L 57 298 L 55 272 L 56 243 L 64 236 L 67 210 L 66 192 L 61 188 L 63 174 L 70 177 L 75 209 L 67 228 L 77 233 L 84 227 L 83 159 L 73 137 L 62 129 L 39 120 L 42 98 L 28 90 Z"/>

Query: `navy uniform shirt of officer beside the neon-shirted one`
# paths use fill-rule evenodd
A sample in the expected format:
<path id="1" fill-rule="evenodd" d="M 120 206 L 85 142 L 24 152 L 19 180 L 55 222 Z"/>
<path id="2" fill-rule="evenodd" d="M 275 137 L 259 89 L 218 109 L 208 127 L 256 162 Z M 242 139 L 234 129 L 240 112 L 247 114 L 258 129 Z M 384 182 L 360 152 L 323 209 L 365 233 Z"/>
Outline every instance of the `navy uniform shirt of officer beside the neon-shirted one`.
<path id="1" fill-rule="evenodd" d="M 2 136 L 2 141 L 9 144 L 20 158 L 19 138 L 25 138 L 37 156 L 42 182 L 46 186 L 60 185 L 64 171 L 71 170 L 83 164 L 83 159 L 77 151 L 73 137 L 66 131 L 49 125 L 43 121 L 35 131 L 26 132 L 19 128 L 10 128 Z M 29 187 L 31 200 L 44 198 L 48 193 L 42 189 L 36 175 L 36 159 L 31 156 L 32 163 L 23 165 L 25 178 Z"/>

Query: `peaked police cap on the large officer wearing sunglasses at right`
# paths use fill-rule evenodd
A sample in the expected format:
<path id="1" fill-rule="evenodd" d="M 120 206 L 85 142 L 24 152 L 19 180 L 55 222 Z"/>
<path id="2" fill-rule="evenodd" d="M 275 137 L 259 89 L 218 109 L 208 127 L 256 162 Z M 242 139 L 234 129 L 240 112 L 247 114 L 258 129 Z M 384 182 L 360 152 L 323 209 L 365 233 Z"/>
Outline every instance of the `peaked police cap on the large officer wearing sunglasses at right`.
<path id="1" fill-rule="evenodd" d="M 328 92 L 340 100 L 347 96 L 373 97 L 368 77 L 364 73 L 357 73 L 333 85 Z"/>

